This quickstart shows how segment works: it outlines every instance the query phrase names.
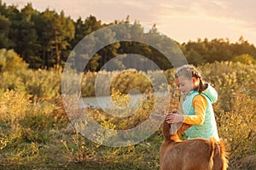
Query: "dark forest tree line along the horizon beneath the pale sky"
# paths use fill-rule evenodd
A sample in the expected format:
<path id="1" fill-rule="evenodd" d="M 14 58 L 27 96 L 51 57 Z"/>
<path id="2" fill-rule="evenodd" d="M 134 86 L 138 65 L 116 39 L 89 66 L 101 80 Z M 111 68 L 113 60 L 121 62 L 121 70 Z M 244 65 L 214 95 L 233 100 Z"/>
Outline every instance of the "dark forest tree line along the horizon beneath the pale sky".
<path id="1" fill-rule="evenodd" d="M 85 20 L 79 17 L 73 20 L 66 16 L 64 11 L 57 13 L 46 8 L 39 12 L 27 3 L 25 7 L 18 9 L 15 5 L 6 5 L 0 0 L 0 48 L 14 49 L 20 57 L 33 69 L 61 68 L 73 50 L 73 48 L 91 32 L 105 26 L 122 23 L 130 23 L 129 16 L 125 20 L 114 20 L 105 24 L 97 20 L 95 16 L 88 16 Z M 160 46 L 166 45 L 166 36 L 161 35 L 156 26 L 145 32 L 139 21 L 131 24 L 129 31 L 125 30 L 125 37 L 137 37 L 141 39 L 156 40 Z M 112 31 L 104 32 L 101 37 L 111 39 L 119 35 Z M 190 64 L 200 65 L 214 61 L 234 60 L 254 63 L 256 60 L 256 48 L 243 37 L 237 42 L 230 42 L 228 38 L 215 38 L 212 40 L 197 39 L 197 41 L 176 42 Z M 95 44 L 91 44 L 93 47 Z M 102 66 L 119 54 L 142 54 L 148 59 L 153 59 L 162 69 L 172 67 L 158 50 L 147 44 L 138 42 L 115 42 L 98 50 L 89 60 L 85 70 L 99 71 Z M 88 58 L 88 56 L 84 56 Z M 128 63 L 137 63 L 130 59 Z M 76 65 L 81 65 L 79 60 Z M 122 65 L 120 65 L 122 66 Z"/>

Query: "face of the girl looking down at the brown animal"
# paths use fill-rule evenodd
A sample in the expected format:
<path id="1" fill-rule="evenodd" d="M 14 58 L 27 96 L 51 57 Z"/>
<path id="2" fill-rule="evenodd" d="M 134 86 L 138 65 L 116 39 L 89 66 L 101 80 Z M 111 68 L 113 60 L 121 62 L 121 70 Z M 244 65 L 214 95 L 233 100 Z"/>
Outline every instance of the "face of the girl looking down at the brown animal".
<path id="1" fill-rule="evenodd" d="M 183 76 L 175 78 L 175 82 L 179 91 L 183 94 L 189 94 L 189 92 L 195 88 L 194 78 L 186 78 Z"/>

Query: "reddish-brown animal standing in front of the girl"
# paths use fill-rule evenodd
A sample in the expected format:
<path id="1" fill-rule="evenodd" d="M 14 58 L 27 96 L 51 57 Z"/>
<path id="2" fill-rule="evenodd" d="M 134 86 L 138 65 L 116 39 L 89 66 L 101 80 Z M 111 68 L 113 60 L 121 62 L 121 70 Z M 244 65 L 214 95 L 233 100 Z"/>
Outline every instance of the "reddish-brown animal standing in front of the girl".
<path id="1" fill-rule="evenodd" d="M 174 124 L 172 124 L 173 126 Z M 170 125 L 164 121 L 164 142 L 160 148 L 161 170 L 225 170 L 228 167 L 224 144 L 211 139 L 182 141 L 180 134 L 190 125 L 184 124 L 170 134 Z M 172 130 L 172 129 L 171 129 Z"/>

